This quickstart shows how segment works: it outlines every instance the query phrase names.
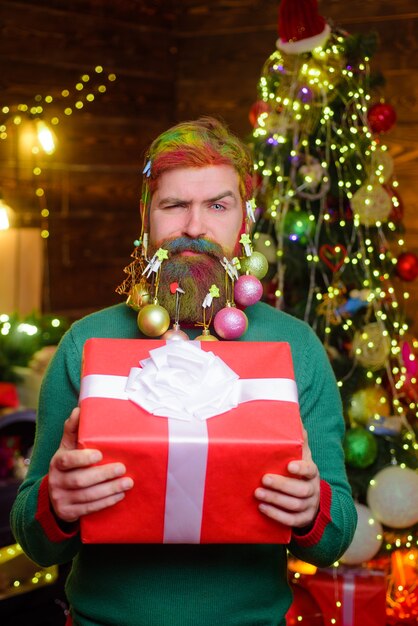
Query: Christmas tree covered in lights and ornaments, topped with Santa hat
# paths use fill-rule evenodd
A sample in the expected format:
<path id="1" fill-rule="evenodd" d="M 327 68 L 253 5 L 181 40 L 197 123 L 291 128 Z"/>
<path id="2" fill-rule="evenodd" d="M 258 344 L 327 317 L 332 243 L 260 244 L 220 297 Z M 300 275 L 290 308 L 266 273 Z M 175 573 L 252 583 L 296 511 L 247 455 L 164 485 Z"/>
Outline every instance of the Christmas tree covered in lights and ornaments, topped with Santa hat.
<path id="1" fill-rule="evenodd" d="M 376 49 L 374 34 L 331 27 L 316 0 L 282 0 L 277 49 L 250 110 L 254 240 L 269 261 L 265 299 L 312 326 L 341 390 L 359 513 L 341 562 L 383 559 L 388 619 L 408 621 L 417 619 L 416 592 L 393 581 L 399 571 L 406 581 L 400 557 L 414 589 L 418 573 L 418 340 L 404 301 L 418 258 L 406 248 L 385 145 L 396 112 L 370 68 Z"/>

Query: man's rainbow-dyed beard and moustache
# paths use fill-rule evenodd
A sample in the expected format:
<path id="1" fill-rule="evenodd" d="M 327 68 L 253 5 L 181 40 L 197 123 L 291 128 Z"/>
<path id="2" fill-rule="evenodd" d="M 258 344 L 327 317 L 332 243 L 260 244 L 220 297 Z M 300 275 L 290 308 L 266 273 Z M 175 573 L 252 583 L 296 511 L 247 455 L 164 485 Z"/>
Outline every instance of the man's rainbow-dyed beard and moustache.
<path id="1" fill-rule="evenodd" d="M 154 247 L 151 245 L 149 254 Z M 179 321 L 194 324 L 202 321 L 202 303 L 211 285 L 219 288 L 219 298 L 214 298 L 213 314 L 225 306 L 225 270 L 220 261 L 226 256 L 221 246 L 207 239 L 178 237 L 165 240 L 156 246 L 168 250 L 169 257 L 161 265 L 158 302 L 175 319 L 176 298 L 170 284 L 178 282 L 184 290 L 181 297 Z M 191 255 L 181 254 L 192 252 Z"/>

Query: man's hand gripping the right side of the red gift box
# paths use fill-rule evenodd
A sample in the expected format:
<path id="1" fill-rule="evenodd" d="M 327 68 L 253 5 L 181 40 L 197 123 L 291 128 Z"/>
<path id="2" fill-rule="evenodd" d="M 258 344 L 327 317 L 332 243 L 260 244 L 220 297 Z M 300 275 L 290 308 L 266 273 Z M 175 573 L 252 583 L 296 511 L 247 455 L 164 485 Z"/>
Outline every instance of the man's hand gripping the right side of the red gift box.
<path id="1" fill-rule="evenodd" d="M 319 508 L 320 477 L 308 444 L 308 435 L 303 431 L 303 450 L 300 461 L 291 461 L 287 466 L 293 476 L 266 474 L 263 487 L 256 489 L 255 497 L 261 500 L 262 513 L 291 526 L 304 528 L 315 520 Z"/>

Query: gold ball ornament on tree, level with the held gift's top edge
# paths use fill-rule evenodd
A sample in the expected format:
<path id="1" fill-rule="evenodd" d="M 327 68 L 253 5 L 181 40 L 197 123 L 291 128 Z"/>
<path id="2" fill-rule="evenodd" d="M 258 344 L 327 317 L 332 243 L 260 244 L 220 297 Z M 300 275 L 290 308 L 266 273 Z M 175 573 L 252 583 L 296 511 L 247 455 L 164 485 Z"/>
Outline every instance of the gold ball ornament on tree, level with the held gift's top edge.
<path id="1" fill-rule="evenodd" d="M 351 351 L 362 367 L 381 369 L 390 354 L 389 335 L 378 322 L 366 324 L 354 334 Z"/>

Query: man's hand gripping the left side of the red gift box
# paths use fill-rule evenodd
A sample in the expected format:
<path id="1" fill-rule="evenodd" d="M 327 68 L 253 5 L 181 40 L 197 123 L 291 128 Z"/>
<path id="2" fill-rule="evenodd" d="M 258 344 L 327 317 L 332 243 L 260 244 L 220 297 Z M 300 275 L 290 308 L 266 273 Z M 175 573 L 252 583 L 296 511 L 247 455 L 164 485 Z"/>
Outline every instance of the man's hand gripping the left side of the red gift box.
<path id="1" fill-rule="evenodd" d="M 80 409 L 74 409 L 66 420 L 49 466 L 49 498 L 55 515 L 64 522 L 116 504 L 133 487 L 122 463 L 93 466 L 102 460 L 101 452 L 77 449 L 79 415 Z"/>

